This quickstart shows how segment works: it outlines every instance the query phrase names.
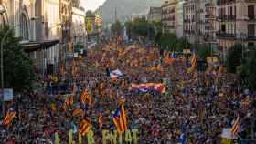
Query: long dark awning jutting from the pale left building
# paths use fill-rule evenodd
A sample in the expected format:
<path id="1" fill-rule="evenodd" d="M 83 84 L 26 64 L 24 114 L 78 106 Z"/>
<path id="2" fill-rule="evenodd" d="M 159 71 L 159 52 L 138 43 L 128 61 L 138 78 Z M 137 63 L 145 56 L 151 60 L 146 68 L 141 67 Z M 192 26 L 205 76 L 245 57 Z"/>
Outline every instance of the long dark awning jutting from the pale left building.
<path id="1" fill-rule="evenodd" d="M 58 43 L 59 43 L 59 39 L 56 39 L 56 40 L 45 40 L 43 42 L 26 42 L 26 43 L 22 43 L 21 46 L 24 47 L 25 52 L 29 53 L 29 52 L 47 49 L 51 46 L 55 46 Z"/>

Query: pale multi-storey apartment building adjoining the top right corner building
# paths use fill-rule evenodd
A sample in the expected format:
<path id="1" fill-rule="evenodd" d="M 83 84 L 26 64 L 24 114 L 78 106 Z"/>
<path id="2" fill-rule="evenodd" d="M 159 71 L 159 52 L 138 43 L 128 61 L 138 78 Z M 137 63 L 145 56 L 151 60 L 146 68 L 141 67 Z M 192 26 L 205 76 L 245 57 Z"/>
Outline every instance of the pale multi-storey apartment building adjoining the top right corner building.
<path id="1" fill-rule="evenodd" d="M 217 46 L 216 0 L 187 0 L 184 3 L 184 36 L 192 44 Z"/>

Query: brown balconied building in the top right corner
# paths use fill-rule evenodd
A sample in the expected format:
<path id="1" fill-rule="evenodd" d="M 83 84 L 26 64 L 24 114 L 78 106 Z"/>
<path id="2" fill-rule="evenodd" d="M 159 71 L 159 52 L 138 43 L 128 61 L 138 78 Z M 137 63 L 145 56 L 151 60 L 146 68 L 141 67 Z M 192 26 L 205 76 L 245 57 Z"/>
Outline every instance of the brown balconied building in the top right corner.
<path id="1" fill-rule="evenodd" d="M 226 57 L 229 47 L 235 43 L 254 46 L 256 0 L 219 0 L 217 41 Z"/>

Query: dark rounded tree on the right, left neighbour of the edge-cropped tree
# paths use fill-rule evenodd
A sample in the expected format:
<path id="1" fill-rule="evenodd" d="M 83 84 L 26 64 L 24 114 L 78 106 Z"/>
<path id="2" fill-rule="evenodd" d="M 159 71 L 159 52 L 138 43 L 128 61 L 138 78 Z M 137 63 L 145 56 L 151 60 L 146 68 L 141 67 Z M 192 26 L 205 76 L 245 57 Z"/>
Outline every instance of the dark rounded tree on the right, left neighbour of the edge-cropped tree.
<path id="1" fill-rule="evenodd" d="M 229 73 L 236 73 L 237 67 L 241 65 L 242 46 L 236 44 L 229 48 L 228 56 L 226 59 L 226 67 Z"/>

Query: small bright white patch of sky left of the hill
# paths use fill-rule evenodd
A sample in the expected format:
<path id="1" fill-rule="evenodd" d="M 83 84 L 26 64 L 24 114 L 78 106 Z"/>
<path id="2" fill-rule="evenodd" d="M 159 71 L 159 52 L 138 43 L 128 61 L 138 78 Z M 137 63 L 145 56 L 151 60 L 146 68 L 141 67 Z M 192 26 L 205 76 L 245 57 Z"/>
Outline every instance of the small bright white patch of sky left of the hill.
<path id="1" fill-rule="evenodd" d="M 81 4 L 85 8 L 85 11 L 92 10 L 94 11 L 100 5 L 102 5 L 106 0 L 80 0 Z"/>

